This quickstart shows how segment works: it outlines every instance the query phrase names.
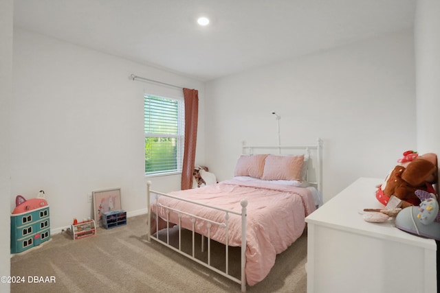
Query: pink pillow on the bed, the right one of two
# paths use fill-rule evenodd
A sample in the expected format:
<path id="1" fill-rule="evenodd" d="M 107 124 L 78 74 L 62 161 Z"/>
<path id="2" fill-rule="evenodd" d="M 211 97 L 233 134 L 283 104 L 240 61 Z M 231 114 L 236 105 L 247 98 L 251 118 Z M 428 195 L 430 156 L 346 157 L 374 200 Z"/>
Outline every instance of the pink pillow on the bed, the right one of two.
<path id="1" fill-rule="evenodd" d="M 304 155 L 275 156 L 268 155 L 265 159 L 263 180 L 302 180 Z"/>

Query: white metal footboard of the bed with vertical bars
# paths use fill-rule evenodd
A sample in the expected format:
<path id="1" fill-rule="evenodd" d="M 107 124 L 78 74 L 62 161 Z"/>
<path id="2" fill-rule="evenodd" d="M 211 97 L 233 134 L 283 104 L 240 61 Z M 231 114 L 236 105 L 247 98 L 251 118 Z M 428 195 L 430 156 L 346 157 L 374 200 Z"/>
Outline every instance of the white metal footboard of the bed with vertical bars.
<path id="1" fill-rule="evenodd" d="M 168 248 L 175 250 L 177 253 L 180 253 L 181 255 L 184 255 L 186 257 L 188 257 L 189 259 L 192 259 L 193 261 L 200 263 L 202 266 L 205 266 L 206 268 L 209 268 L 210 270 L 217 272 L 218 274 L 221 274 L 224 277 L 227 277 L 228 279 L 241 284 L 241 292 L 246 292 L 246 274 L 245 274 L 245 265 L 246 265 L 246 257 L 245 257 L 245 251 L 246 251 L 246 209 L 248 206 L 248 201 L 247 200 L 241 200 L 241 213 L 238 213 L 236 211 L 231 211 L 228 209 L 221 209 L 219 207 L 213 207 L 210 206 L 208 204 L 201 204 L 200 202 L 195 202 L 192 200 L 186 200 L 184 198 L 179 198 L 176 196 L 172 196 L 170 194 L 164 194 L 162 192 L 159 191 L 154 191 L 151 189 L 151 181 L 147 182 L 147 211 L 148 211 L 148 217 L 147 217 L 147 240 L 151 241 L 151 239 L 155 240 L 156 242 L 163 244 L 164 246 L 168 246 Z M 157 202 L 157 199 L 159 198 L 159 196 L 166 196 L 168 198 L 174 198 L 175 200 L 183 200 L 186 202 L 190 202 L 192 204 L 197 204 L 203 207 L 208 207 L 210 209 L 216 209 L 217 211 L 222 211 L 223 213 L 225 213 L 225 220 L 223 222 L 215 222 L 206 218 L 202 218 L 199 217 L 198 215 L 193 215 L 191 213 L 187 213 L 186 211 L 179 211 L 177 209 L 173 209 L 170 207 L 166 207 L 163 204 L 160 204 L 159 202 Z M 157 213 L 157 211 L 152 211 L 151 206 L 154 203 L 154 207 L 156 207 L 156 209 L 158 207 L 163 207 L 166 210 L 166 216 L 164 218 L 162 218 L 162 220 L 164 220 L 166 222 L 166 241 L 163 241 L 162 239 L 159 239 L 158 236 L 158 232 L 159 232 L 159 215 Z M 169 213 L 170 211 L 173 211 L 175 213 L 177 213 L 178 215 L 178 222 L 177 223 L 171 223 L 169 221 Z M 228 220 L 230 217 L 230 214 L 235 214 L 235 215 L 240 215 L 241 216 L 241 278 L 238 279 L 234 276 L 232 276 L 229 273 L 229 249 L 228 249 L 228 244 L 229 244 L 229 225 L 228 225 Z M 190 229 L 192 231 L 192 253 L 190 255 L 188 255 L 188 253 L 184 253 L 184 251 L 181 249 L 181 217 L 183 215 L 188 216 L 191 219 L 192 222 L 192 229 Z M 154 217 L 155 219 L 155 227 L 151 226 L 151 220 L 153 219 L 152 217 Z M 195 222 L 197 221 L 204 221 L 206 222 L 206 226 L 208 227 L 208 233 L 207 235 L 202 235 L 201 239 L 202 239 L 202 244 L 201 247 L 204 250 L 204 237 L 206 237 L 208 239 L 208 247 L 207 247 L 207 255 L 208 255 L 208 259 L 207 262 L 201 261 L 200 259 L 197 259 L 195 257 Z M 178 227 L 178 235 L 179 235 L 179 242 L 177 247 L 173 246 L 170 244 L 170 224 L 177 224 Z M 223 272 L 222 270 L 219 270 L 218 268 L 215 268 L 214 266 L 211 265 L 211 259 L 210 259 L 210 254 L 211 254 L 211 247 L 210 247 L 210 227 L 212 225 L 217 225 L 221 228 L 225 229 L 225 235 L 226 235 L 226 240 L 225 240 L 225 271 Z M 157 232 L 156 235 L 151 235 L 151 228 L 155 228 L 155 231 Z M 244 244 L 244 245 L 243 245 Z"/>

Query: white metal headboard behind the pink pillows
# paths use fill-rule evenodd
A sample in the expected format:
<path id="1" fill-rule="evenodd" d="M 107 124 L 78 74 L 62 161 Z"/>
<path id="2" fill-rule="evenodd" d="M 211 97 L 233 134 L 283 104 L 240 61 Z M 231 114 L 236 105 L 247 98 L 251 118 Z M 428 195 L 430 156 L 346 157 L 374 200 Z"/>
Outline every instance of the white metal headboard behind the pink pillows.
<path id="1" fill-rule="evenodd" d="M 242 154 L 306 154 L 307 181 L 322 194 L 322 139 L 318 138 L 316 145 L 246 145 L 243 141 Z"/>

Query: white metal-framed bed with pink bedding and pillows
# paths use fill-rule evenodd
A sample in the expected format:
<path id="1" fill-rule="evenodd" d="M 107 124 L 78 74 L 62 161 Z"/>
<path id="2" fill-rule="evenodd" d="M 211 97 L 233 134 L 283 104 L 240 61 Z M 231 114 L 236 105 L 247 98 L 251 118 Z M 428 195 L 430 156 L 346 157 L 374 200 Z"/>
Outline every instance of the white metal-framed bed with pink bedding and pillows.
<path id="1" fill-rule="evenodd" d="M 147 237 L 214 272 L 246 285 L 262 281 L 305 229 L 305 217 L 322 204 L 322 140 L 316 145 L 243 145 L 234 177 L 214 185 L 164 194 L 147 186 Z M 173 231 L 178 244 L 170 244 Z M 192 252 L 181 250 L 182 230 L 192 233 Z M 159 232 L 165 237 L 159 237 Z M 195 257 L 195 235 L 208 258 Z M 210 263 L 211 243 L 225 245 L 225 267 Z M 242 245 L 245 243 L 245 245 Z M 229 272 L 228 251 L 241 247 L 241 275 Z"/>

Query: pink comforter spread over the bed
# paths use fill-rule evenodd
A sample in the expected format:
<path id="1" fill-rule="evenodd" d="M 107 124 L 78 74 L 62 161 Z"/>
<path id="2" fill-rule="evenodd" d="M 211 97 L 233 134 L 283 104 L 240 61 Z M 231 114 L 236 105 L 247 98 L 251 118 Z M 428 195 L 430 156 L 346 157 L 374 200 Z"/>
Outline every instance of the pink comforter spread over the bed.
<path id="1" fill-rule="evenodd" d="M 248 200 L 246 233 L 246 281 L 254 285 L 263 280 L 274 266 L 278 253 L 287 249 L 305 228 L 305 217 L 315 210 L 314 199 L 308 189 L 254 181 L 226 180 L 216 185 L 170 193 L 188 200 L 241 212 L 241 200 Z M 160 196 L 159 202 L 168 207 L 224 222 L 225 213 L 195 204 Z M 153 212 L 156 207 L 153 207 Z M 166 218 L 159 208 L 159 217 Z M 177 214 L 169 214 L 170 222 L 178 223 Z M 241 217 L 230 215 L 229 245 L 241 246 Z M 181 218 L 181 226 L 192 230 L 188 217 Z M 206 223 L 196 221 L 195 231 L 207 235 Z M 212 225 L 210 237 L 225 244 L 225 229 Z"/>

